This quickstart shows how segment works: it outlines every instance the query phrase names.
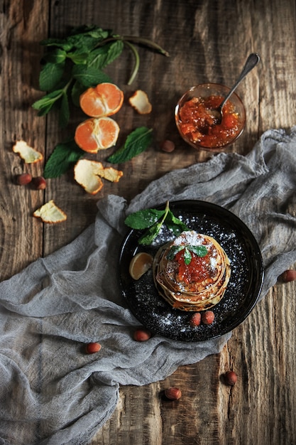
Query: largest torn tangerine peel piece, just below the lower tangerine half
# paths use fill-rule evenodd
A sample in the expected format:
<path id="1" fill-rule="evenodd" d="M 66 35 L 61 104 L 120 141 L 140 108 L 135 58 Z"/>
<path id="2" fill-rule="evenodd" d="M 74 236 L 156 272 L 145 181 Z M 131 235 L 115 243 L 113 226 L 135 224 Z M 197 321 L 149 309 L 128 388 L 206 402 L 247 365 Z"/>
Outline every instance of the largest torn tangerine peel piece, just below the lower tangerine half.
<path id="1" fill-rule="evenodd" d="M 80 159 L 74 167 L 74 178 L 87 193 L 95 195 L 103 187 L 102 178 L 119 182 L 124 173 L 113 167 L 104 167 L 99 161 Z"/>

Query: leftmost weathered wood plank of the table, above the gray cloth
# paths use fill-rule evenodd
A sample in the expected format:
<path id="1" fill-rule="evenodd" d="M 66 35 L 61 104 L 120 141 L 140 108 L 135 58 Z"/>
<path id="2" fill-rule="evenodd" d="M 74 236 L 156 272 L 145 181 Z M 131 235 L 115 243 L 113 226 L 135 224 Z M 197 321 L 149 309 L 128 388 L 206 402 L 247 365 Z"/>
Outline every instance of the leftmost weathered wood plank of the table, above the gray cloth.
<path id="1" fill-rule="evenodd" d="M 43 3 L 43 4 L 42 4 Z M 20 271 L 43 254 L 43 227 L 32 211 L 43 203 L 43 192 L 16 186 L 23 171 L 38 176 L 43 163 L 24 166 L 13 154 L 16 140 L 24 139 L 45 154 L 45 121 L 31 108 L 38 80 L 40 38 L 48 26 L 47 2 L 1 1 L 1 102 L 0 102 L 0 225 L 1 280 Z"/>

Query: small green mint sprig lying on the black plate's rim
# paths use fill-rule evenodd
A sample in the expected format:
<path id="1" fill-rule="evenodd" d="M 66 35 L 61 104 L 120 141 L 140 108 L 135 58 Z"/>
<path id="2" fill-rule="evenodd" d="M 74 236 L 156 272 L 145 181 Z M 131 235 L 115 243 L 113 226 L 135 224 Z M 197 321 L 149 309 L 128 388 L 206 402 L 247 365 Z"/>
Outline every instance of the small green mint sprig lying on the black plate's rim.
<path id="1" fill-rule="evenodd" d="M 161 227 L 165 224 L 172 230 L 175 236 L 180 235 L 185 230 L 190 230 L 179 218 L 173 215 L 169 202 L 165 205 L 165 210 L 144 209 L 131 213 L 124 221 L 128 227 L 135 230 L 145 230 L 138 240 L 140 245 L 150 245 L 157 237 Z"/>

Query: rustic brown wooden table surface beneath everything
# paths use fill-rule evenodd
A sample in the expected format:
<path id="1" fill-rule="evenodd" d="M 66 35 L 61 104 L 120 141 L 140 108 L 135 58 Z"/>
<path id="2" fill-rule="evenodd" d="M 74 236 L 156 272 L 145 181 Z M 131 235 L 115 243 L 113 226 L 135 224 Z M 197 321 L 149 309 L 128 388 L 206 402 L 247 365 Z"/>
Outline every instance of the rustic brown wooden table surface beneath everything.
<path id="1" fill-rule="evenodd" d="M 61 130 L 55 114 L 38 117 L 32 109 L 42 95 L 38 42 L 65 36 L 70 27 L 84 23 L 145 36 L 170 53 L 165 58 L 139 47 L 140 69 L 130 86 L 128 49 L 107 70 L 126 97 L 138 88 L 148 93 L 153 112 L 140 116 L 125 105 L 116 120 L 123 134 L 139 125 L 153 127 L 155 144 L 121 166 L 119 183 L 105 181 L 94 196 L 75 183 L 72 172 L 48 180 L 45 191 L 16 186 L 15 177 L 26 166 L 13 154 L 13 141 L 27 141 L 48 159 L 81 120 L 77 113 Z M 258 52 L 261 63 L 239 87 L 247 124 L 229 151 L 247 154 L 266 129 L 295 124 L 294 0 L 2 0 L 0 26 L 1 280 L 77 237 L 94 221 L 103 196 L 114 193 L 130 200 L 164 173 L 208 159 L 207 152 L 194 151 L 177 134 L 175 103 L 199 82 L 231 85 L 248 53 Z M 164 139 L 175 142 L 174 152 L 159 149 Z M 104 160 L 105 154 L 94 158 Z M 30 166 L 33 176 L 42 175 L 43 166 Z M 32 217 L 49 199 L 65 210 L 65 223 L 43 225 Z M 296 444 L 295 291 L 295 282 L 270 289 L 219 355 L 184 366 L 162 382 L 121 387 L 120 403 L 92 445 Z M 239 376 L 235 387 L 219 380 L 228 369 Z M 180 401 L 161 403 L 159 392 L 168 385 L 182 387 Z"/>

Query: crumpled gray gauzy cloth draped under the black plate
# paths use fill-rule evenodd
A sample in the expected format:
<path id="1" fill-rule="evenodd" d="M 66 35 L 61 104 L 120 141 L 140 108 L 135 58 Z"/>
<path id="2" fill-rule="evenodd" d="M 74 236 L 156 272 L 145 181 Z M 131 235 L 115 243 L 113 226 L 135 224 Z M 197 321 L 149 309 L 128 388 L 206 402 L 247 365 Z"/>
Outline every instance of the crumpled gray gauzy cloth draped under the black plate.
<path id="1" fill-rule="evenodd" d="M 129 205 L 99 200 L 76 240 L 0 283 L 0 444 L 87 444 L 111 416 L 119 385 L 163 380 L 219 353 L 231 334 L 197 343 L 133 341 L 138 321 L 116 282 L 124 218 L 165 200 L 198 199 L 239 216 L 263 254 L 262 298 L 296 261 L 296 127 L 265 132 L 247 156 L 218 154 L 172 171 Z M 102 350 L 84 353 L 84 343 Z"/>

